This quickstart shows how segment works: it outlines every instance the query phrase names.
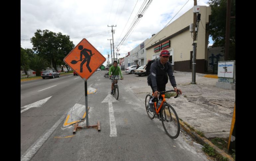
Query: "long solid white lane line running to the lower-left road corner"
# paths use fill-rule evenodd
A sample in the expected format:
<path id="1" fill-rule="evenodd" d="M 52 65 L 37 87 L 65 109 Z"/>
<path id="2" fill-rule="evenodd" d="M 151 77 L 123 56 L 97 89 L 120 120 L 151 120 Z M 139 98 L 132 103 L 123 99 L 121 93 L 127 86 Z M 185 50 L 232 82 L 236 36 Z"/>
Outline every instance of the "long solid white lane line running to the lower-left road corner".
<path id="1" fill-rule="evenodd" d="M 60 125 L 60 123 L 65 119 L 65 115 L 58 120 L 53 127 L 48 130 L 44 135 L 40 136 L 39 139 L 21 156 L 21 161 L 29 161 L 45 143 L 45 141 L 52 135 L 55 129 Z"/>

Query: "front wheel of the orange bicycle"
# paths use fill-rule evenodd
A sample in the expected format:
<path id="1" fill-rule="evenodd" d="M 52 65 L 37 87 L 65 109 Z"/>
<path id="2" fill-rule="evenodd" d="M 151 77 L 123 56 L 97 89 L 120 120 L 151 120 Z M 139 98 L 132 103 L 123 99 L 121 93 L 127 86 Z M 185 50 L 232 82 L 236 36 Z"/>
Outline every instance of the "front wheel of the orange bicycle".
<path id="1" fill-rule="evenodd" d="M 177 138 L 180 134 L 180 121 L 174 108 L 170 104 L 164 103 L 160 116 L 167 135 L 172 139 Z"/>

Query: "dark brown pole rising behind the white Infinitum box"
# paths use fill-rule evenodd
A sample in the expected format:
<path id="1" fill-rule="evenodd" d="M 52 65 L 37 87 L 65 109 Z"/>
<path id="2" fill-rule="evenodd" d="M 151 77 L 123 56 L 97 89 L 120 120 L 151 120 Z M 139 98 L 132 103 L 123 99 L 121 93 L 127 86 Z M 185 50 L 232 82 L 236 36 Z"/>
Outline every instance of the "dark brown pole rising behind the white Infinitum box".
<path id="1" fill-rule="evenodd" d="M 224 60 L 225 60 L 225 61 L 228 60 L 228 54 L 229 54 L 230 12 L 231 12 L 231 0 L 227 0 L 226 42 L 225 42 L 225 54 L 224 54 Z"/>

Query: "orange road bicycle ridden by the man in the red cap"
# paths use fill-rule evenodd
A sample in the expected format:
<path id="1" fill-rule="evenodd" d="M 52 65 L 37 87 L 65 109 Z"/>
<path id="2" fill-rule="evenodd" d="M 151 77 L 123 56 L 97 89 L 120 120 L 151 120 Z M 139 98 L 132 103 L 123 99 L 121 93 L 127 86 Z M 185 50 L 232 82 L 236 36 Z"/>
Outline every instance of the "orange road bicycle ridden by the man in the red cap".
<path id="1" fill-rule="evenodd" d="M 169 103 L 166 102 L 166 99 L 165 99 L 166 92 L 175 92 L 175 91 L 170 90 L 170 91 L 158 92 L 158 97 L 161 94 L 163 97 L 163 101 L 161 102 L 161 105 L 159 107 L 157 107 L 157 102 L 154 102 L 154 104 L 153 104 L 154 111 L 153 112 L 151 112 L 149 110 L 149 101 L 150 101 L 153 93 L 152 93 L 152 95 L 148 94 L 146 96 L 145 106 L 146 106 L 146 111 L 147 111 L 148 117 L 150 119 L 159 118 L 159 121 L 162 121 L 163 127 L 164 127 L 167 135 L 169 137 L 171 137 L 172 139 L 175 139 L 180 134 L 180 122 L 179 122 L 178 115 L 177 115 L 176 111 L 174 110 L 174 108 Z M 177 97 L 178 97 L 178 94 L 174 98 L 177 98 Z"/>

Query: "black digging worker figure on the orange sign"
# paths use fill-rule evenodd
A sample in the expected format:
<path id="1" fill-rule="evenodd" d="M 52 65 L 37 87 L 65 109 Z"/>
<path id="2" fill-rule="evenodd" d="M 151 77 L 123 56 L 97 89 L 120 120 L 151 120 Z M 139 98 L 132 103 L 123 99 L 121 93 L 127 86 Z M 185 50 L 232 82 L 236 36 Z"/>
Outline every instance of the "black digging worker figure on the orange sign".
<path id="1" fill-rule="evenodd" d="M 92 54 L 91 50 L 89 50 L 87 48 L 83 48 L 83 45 L 79 45 L 78 49 L 81 50 L 80 51 L 80 60 L 72 60 L 70 63 L 76 64 L 78 61 L 82 61 L 80 63 L 80 73 L 82 73 L 83 72 L 83 64 L 87 61 L 86 67 L 89 70 L 89 72 L 92 72 L 89 64 L 90 64 L 91 56 L 94 55 L 94 53 Z M 83 56 L 84 56 L 84 58 L 83 58 Z"/>

